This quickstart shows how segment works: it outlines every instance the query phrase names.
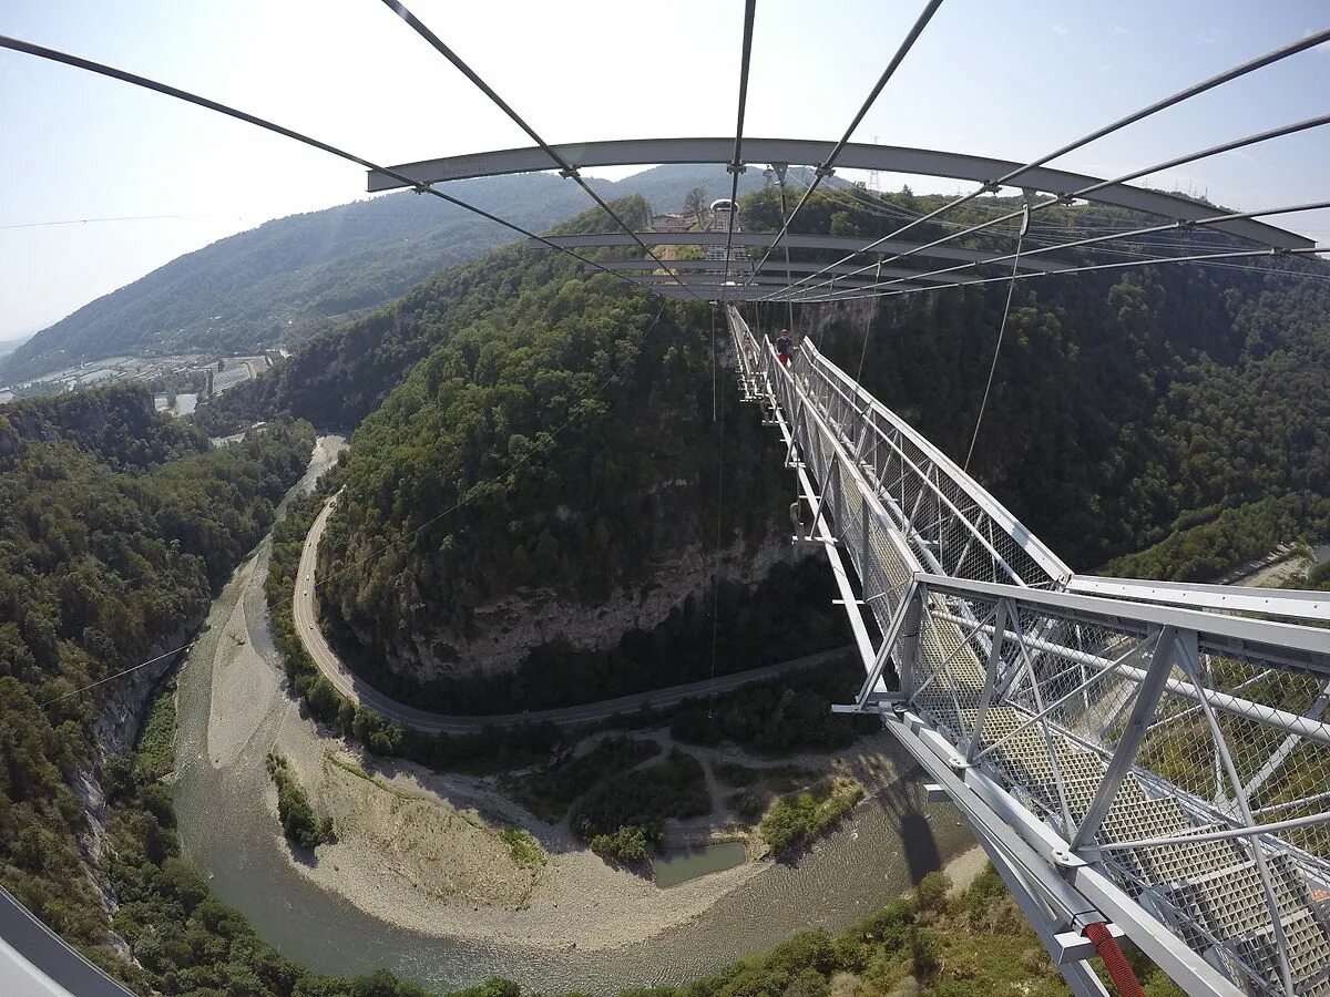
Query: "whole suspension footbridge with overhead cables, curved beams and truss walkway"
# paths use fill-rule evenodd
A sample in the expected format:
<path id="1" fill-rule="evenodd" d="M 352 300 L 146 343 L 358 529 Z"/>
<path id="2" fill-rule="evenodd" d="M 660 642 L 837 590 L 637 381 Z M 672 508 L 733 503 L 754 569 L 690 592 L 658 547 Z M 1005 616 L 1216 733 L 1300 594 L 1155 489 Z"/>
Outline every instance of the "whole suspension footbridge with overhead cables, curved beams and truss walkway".
<path id="1" fill-rule="evenodd" d="M 1318 129 L 1330 116 L 1111 178 L 1049 164 L 1322 45 L 1330 31 L 1309 32 L 1021 162 L 853 141 L 942 0 L 924 4 L 838 141 L 745 136 L 757 7 L 747 0 L 733 136 L 561 145 L 547 142 L 407 7 L 384 4 L 533 145 L 387 166 L 126 69 L 19 39 L 0 37 L 0 47 L 302 142 L 366 169 L 370 191 L 442 198 L 645 294 L 721 304 L 738 389 L 779 433 L 797 480 L 794 542 L 825 550 L 864 666 L 862 687 L 846 690 L 838 709 L 879 717 L 927 771 L 930 794 L 959 808 L 1072 990 L 1105 993 L 1088 961 L 1096 954 L 1123 982 L 1115 940 L 1125 936 L 1192 994 L 1330 994 L 1326 594 L 1076 574 L 857 376 L 807 342 L 786 366 L 737 307 L 835 306 L 987 283 L 1008 286 L 1009 307 L 1019 280 L 1177 263 L 1269 270 L 1327 253 L 1270 219 L 1330 201 L 1229 211 L 1134 181 Z M 583 175 L 672 162 L 724 165 L 732 207 L 739 174 L 765 165 L 779 183 L 779 229 L 754 231 L 728 210 L 712 231 L 634 230 Z M 793 166 L 809 167 L 811 179 L 790 191 L 798 193 L 791 209 Z M 539 234 L 447 193 L 450 181 L 536 170 L 577 183 L 612 230 Z M 946 177 L 974 187 L 871 237 L 802 230 L 802 210 L 837 170 Z M 1017 195 L 1019 206 L 974 223 L 947 219 L 1001 191 Z M 1132 211 L 1140 223 L 1040 245 L 1033 218 L 1085 202 Z M 1182 247 L 1160 238 L 1180 233 L 1189 237 Z M 992 249 L 994 239 L 1012 245 Z M 702 247 L 708 259 L 662 253 L 680 245 Z M 1087 262 L 1085 253 L 1115 258 Z M 0 924 L 11 941 L 19 937 L 5 927 L 12 923 Z M 121 992 L 109 981 L 86 984 L 81 965 L 70 976 L 77 957 L 68 949 L 52 954 L 45 945 L 35 954 L 15 945 L 0 945 L 7 984 L 61 993 L 57 980 L 65 978 L 78 980 L 78 992 Z"/>

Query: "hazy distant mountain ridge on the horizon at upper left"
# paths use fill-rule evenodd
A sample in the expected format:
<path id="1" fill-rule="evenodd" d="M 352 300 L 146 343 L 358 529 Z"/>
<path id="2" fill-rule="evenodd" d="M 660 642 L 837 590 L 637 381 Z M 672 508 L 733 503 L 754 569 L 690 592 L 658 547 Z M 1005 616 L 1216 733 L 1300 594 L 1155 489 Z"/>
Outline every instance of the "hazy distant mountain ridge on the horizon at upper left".
<path id="1" fill-rule="evenodd" d="M 678 210 L 694 186 L 729 194 L 720 166 L 660 166 L 606 197 L 641 194 Z M 743 190 L 762 185 L 750 170 Z M 551 174 L 459 181 L 448 193 L 533 231 L 587 207 L 576 185 Z M 84 306 L 0 359 L 0 383 L 134 352 L 254 352 L 298 343 L 336 320 L 382 307 L 427 277 L 513 242 L 511 230 L 435 197 L 387 194 L 291 215 L 180 257 Z"/>

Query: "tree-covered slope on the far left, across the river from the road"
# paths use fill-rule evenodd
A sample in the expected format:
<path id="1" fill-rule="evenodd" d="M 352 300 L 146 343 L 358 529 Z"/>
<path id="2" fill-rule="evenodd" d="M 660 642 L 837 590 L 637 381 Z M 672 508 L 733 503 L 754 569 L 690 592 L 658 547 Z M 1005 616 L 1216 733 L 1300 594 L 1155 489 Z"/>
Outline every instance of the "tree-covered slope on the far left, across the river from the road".
<path id="1" fill-rule="evenodd" d="M 0 408 L 0 883 L 76 944 L 106 936 L 74 787 L 90 791 L 93 722 L 117 687 L 78 690 L 188 639 L 311 443 L 307 425 L 275 423 L 209 451 L 153 415 L 141 388 Z M 145 786 L 169 768 L 170 744 L 152 715 Z M 153 792 L 144 806 L 161 810 Z"/>

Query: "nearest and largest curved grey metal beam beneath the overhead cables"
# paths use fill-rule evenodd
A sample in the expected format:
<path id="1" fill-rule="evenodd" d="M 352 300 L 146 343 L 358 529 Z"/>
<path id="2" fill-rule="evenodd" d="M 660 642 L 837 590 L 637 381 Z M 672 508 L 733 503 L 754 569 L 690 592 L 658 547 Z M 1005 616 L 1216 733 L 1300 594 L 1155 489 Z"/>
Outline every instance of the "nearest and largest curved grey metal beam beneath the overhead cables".
<path id="1" fill-rule="evenodd" d="M 818 166 L 826 161 L 834 146 L 834 142 L 806 138 L 745 138 L 743 157 L 750 164 Z M 654 166 L 660 164 L 722 165 L 732 161 L 734 138 L 633 138 L 569 142 L 556 145 L 553 149 L 575 169 Z M 403 177 L 412 183 L 430 185 L 472 177 L 537 173 L 549 170 L 549 154 L 539 146 L 450 156 L 404 164 L 394 166 L 391 170 L 370 170 L 367 189 L 374 193 L 408 186 L 402 181 Z M 1021 164 L 938 149 L 849 142 L 841 150 L 837 167 L 948 177 L 975 183 L 990 183 L 998 177 L 1020 170 Z M 1061 195 L 1097 182 L 1100 179 L 1096 177 L 1039 166 L 1019 173 L 1009 181 L 1009 185 Z M 1129 183 L 1115 183 L 1095 191 L 1087 199 L 1189 222 L 1212 217 L 1216 213 L 1216 209 L 1209 205 Z M 1214 230 L 1278 249 L 1309 249 L 1315 245 L 1302 235 L 1254 219 L 1216 225 Z"/>

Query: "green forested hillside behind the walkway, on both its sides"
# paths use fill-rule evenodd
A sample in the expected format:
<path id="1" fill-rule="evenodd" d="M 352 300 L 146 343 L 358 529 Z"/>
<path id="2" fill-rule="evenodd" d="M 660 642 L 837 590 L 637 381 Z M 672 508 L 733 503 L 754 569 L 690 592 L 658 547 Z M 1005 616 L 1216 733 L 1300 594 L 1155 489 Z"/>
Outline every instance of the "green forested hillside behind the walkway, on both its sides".
<path id="1" fill-rule="evenodd" d="M 882 205 L 904 206 L 898 202 L 907 198 Z M 747 207 L 761 226 L 774 194 L 755 194 Z M 1079 230 L 1124 221 L 1072 209 L 1053 223 Z M 835 194 L 814 201 L 802 225 L 871 234 L 887 222 L 871 201 Z M 1017 284 L 972 469 L 1080 569 L 1164 538 L 1193 509 L 1330 491 L 1330 292 L 1325 267 L 1293 266 L 1307 277 L 1177 266 Z M 807 308 L 798 326 L 850 370 L 871 331 L 864 383 L 959 459 L 1005 290 L 995 283 Z M 602 647 L 601 635 L 556 613 L 543 618 L 555 621 L 544 634 L 549 654 L 531 651 L 531 639 L 515 637 L 523 613 L 513 608 L 549 600 L 601 613 L 634 586 L 658 585 L 662 562 L 677 569 L 668 577 L 682 622 L 657 633 L 660 617 L 644 613 L 650 621 L 630 650 L 584 655 L 581 667 L 613 685 L 642 659 L 664 659 L 653 647 L 676 642 L 677 657 L 692 659 L 684 635 L 706 629 L 710 617 L 686 597 L 702 589 L 710 565 L 689 562 L 688 552 L 709 549 L 721 448 L 709 424 L 709 312 L 672 304 L 660 330 L 642 338 L 653 307 L 567 261 L 507 250 L 330 336 L 329 356 L 354 343 L 359 359 L 311 368 L 309 393 L 293 380 L 281 388 L 274 374 L 267 401 L 354 421 L 394 370 L 432 348 L 358 429 L 344 504 L 326 541 L 329 608 L 376 681 L 458 702 L 464 695 L 438 693 L 440 682 L 512 667 L 527 654 L 521 689 L 557 697 L 559 679 L 549 677 L 576 674 L 571 649 Z M 783 322 L 782 311 L 750 308 L 758 328 Z M 371 389 L 358 395 L 364 384 Z M 733 391 L 722 383 L 722 393 Z M 734 520 L 732 508 L 725 529 L 751 530 L 759 542 L 790 485 L 746 416 L 729 416 L 728 473 L 746 484 L 728 480 L 726 501 L 751 521 Z M 1321 521 L 1298 520 L 1298 528 Z M 782 637 L 749 625 L 759 634 L 750 649 Z M 517 647 L 516 658 L 495 662 L 487 641 Z M 500 691 L 485 687 L 485 695 Z"/>

